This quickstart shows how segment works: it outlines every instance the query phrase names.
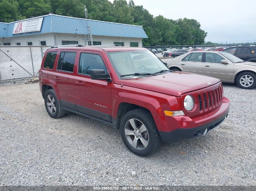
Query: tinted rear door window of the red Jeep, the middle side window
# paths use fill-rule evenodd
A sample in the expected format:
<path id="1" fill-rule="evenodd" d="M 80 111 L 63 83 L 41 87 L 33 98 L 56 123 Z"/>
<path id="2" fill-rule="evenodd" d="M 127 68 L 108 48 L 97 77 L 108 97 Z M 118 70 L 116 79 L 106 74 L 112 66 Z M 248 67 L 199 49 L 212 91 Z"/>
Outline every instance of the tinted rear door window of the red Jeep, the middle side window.
<path id="1" fill-rule="evenodd" d="M 76 53 L 61 52 L 58 60 L 57 70 L 73 72 Z"/>

